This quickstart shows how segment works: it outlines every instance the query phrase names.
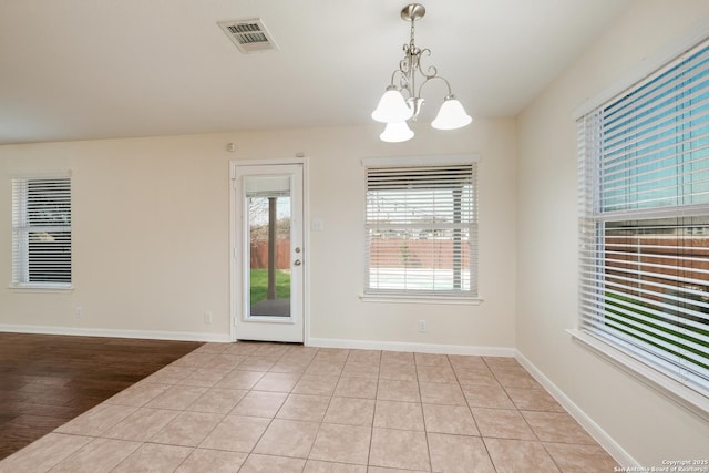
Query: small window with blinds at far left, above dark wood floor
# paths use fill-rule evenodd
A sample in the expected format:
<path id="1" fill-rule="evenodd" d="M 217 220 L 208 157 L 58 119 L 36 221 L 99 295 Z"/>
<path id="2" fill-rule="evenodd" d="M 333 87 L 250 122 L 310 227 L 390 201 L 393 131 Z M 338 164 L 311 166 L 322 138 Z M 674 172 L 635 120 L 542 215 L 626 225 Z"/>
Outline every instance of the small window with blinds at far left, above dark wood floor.
<path id="1" fill-rule="evenodd" d="M 12 179 L 12 285 L 71 286 L 69 177 Z"/>

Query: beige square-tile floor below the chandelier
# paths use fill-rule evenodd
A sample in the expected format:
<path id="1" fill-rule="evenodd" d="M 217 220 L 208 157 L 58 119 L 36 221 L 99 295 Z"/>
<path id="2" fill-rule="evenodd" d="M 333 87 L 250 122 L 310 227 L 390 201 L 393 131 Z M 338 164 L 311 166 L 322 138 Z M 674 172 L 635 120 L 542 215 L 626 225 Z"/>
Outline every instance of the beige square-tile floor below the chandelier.
<path id="1" fill-rule="evenodd" d="M 613 472 L 512 358 L 207 343 L 0 472 Z"/>

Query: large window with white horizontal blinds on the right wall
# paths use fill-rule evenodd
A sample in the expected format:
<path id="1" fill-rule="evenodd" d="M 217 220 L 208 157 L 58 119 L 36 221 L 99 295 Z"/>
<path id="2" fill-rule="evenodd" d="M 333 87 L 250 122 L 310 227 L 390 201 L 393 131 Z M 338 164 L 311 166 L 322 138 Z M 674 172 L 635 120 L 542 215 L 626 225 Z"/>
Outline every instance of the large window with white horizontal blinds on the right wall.
<path id="1" fill-rule="evenodd" d="M 578 121 L 580 330 L 709 394 L 709 43 Z"/>

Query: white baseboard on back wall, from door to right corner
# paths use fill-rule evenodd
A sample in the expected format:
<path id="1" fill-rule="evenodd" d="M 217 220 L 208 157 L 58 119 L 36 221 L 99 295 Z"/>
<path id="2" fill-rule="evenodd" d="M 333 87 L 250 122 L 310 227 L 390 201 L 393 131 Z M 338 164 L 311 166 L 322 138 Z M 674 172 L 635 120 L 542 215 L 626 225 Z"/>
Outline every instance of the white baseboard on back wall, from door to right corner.
<path id="1" fill-rule="evenodd" d="M 432 345 L 400 341 L 350 340 L 337 338 L 310 338 L 309 347 L 354 348 L 364 350 L 417 351 L 419 353 L 473 354 L 485 357 L 514 357 L 515 349 L 508 347 L 471 347 L 464 345 Z"/>

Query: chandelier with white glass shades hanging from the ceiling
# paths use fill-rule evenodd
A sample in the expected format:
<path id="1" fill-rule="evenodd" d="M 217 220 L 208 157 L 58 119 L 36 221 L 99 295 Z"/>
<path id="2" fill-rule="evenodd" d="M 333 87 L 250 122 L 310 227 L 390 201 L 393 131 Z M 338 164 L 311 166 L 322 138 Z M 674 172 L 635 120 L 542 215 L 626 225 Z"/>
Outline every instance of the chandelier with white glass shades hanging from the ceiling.
<path id="1" fill-rule="evenodd" d="M 379 105 L 372 112 L 372 119 L 387 123 L 384 132 L 379 135 L 382 141 L 399 143 L 413 137 L 413 132 L 407 125 L 407 121 L 415 121 L 423 99 L 421 90 L 433 80 L 441 80 L 448 88 L 448 94 L 431 126 L 436 130 L 456 130 L 470 124 L 473 119 L 465 113 L 463 105 L 451 92 L 451 84 L 442 76 L 433 65 L 425 69 L 421 66 L 421 56 L 431 55 L 430 49 L 420 49 L 413 40 L 414 22 L 425 14 L 425 8 L 420 3 L 411 3 L 401 10 L 401 18 L 411 22 L 411 40 L 403 45 L 403 59 L 399 62 L 399 69 L 391 74 L 391 84 L 379 101 Z M 397 84 L 397 79 L 399 83 Z M 421 84 L 417 85 L 417 81 Z M 404 99 L 403 92 L 407 97 Z"/>

